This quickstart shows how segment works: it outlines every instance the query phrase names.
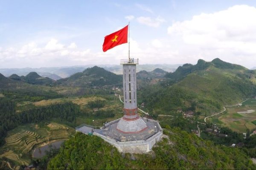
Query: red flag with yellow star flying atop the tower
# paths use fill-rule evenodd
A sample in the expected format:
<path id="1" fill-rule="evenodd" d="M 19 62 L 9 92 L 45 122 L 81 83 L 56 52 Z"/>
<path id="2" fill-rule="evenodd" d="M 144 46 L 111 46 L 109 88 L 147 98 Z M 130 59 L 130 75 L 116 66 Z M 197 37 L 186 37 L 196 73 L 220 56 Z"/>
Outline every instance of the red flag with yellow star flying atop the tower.
<path id="1" fill-rule="evenodd" d="M 102 45 L 103 51 L 106 52 L 117 45 L 127 43 L 127 35 L 128 35 L 128 25 L 120 29 L 119 31 L 116 31 L 112 34 L 105 36 L 105 40 Z"/>

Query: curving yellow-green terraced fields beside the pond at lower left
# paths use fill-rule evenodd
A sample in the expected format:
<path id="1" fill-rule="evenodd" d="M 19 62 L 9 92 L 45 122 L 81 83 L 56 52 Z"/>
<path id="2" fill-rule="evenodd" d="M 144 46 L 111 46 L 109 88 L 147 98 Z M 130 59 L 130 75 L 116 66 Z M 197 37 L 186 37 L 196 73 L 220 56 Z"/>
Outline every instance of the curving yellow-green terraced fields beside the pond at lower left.
<path id="1" fill-rule="evenodd" d="M 75 130 L 55 122 L 41 122 L 19 126 L 8 132 L 6 144 L 0 148 L 0 158 L 5 157 L 10 169 L 31 163 L 32 150 L 37 146 L 69 139 Z"/>

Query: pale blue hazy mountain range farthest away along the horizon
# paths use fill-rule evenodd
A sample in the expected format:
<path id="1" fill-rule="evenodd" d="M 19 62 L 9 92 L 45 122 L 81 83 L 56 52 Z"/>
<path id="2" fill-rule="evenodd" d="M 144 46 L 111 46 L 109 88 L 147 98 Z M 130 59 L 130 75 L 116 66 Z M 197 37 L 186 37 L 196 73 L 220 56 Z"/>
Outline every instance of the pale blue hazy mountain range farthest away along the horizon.
<path id="1" fill-rule="evenodd" d="M 84 65 L 84 66 L 73 66 L 73 67 L 49 67 L 49 68 L 0 68 L 0 73 L 5 77 L 9 77 L 12 74 L 17 74 L 18 76 L 26 76 L 30 72 L 36 72 L 41 77 L 49 77 L 54 80 L 61 78 L 70 77 L 73 74 L 84 71 L 86 68 L 91 68 L 94 65 Z M 122 74 L 121 65 L 98 65 L 107 71 L 111 71 L 115 74 Z M 167 64 L 156 64 L 156 65 L 137 65 L 137 72 L 153 71 L 156 68 L 163 69 L 167 72 L 175 71 L 180 65 L 167 65 Z"/>

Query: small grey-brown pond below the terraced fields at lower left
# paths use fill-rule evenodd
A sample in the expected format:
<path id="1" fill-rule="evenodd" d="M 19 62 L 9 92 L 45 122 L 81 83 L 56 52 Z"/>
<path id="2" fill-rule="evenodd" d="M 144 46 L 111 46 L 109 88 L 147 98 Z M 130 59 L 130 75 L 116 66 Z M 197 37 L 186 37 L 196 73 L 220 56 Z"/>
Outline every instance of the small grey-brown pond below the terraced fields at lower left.
<path id="1" fill-rule="evenodd" d="M 50 150 L 50 146 L 53 148 L 53 149 L 58 149 L 61 147 L 61 144 L 63 143 L 64 141 L 57 141 L 57 142 L 52 142 L 50 144 L 47 144 L 45 146 L 42 146 L 42 147 L 38 147 L 34 150 L 33 152 L 33 157 L 34 158 L 42 158 L 43 156 L 46 155 L 46 151 L 49 151 Z"/>

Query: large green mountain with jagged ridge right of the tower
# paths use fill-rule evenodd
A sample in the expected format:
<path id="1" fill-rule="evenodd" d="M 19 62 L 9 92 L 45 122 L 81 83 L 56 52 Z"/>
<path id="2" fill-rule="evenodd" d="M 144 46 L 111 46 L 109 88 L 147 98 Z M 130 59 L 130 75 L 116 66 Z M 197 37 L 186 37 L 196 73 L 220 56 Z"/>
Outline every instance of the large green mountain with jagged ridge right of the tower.
<path id="1" fill-rule="evenodd" d="M 182 108 L 205 115 L 256 94 L 255 71 L 218 58 L 184 64 L 165 77 L 165 82 L 149 85 L 141 92 L 150 110 L 177 112 Z"/>

